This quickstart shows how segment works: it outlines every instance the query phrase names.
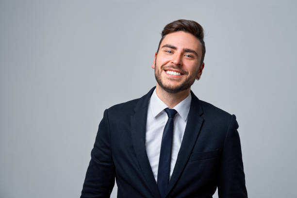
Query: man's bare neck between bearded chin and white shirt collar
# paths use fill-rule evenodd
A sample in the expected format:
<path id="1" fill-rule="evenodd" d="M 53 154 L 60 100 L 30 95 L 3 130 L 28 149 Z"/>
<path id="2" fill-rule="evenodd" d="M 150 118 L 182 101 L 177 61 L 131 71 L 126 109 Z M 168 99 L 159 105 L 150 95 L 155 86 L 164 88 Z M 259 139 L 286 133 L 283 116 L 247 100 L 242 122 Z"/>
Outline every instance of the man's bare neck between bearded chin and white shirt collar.
<path id="1" fill-rule="evenodd" d="M 180 91 L 178 93 L 168 93 L 164 89 L 162 89 L 157 83 L 156 86 L 156 94 L 170 109 L 175 107 L 178 103 L 180 103 L 183 99 L 189 96 L 191 88 Z"/>

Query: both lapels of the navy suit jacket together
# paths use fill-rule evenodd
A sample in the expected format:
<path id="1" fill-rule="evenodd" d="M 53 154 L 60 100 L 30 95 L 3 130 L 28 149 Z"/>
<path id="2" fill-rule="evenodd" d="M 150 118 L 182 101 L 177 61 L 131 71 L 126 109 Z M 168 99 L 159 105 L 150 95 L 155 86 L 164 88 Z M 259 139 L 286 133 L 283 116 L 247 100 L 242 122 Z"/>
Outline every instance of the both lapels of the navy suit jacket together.
<path id="1" fill-rule="evenodd" d="M 148 155 L 145 147 L 146 123 L 148 114 L 148 101 L 154 91 L 153 87 L 145 96 L 140 98 L 135 105 L 135 114 L 131 116 L 131 133 L 134 150 L 141 170 L 143 171 L 145 181 L 153 197 L 160 198 L 159 189 L 151 170 Z M 188 162 L 192 149 L 194 148 L 198 134 L 203 124 L 202 108 L 199 99 L 191 91 L 191 105 L 187 118 L 185 132 L 181 142 L 181 148 L 178 153 L 177 161 L 168 184 L 167 194 L 173 189 L 174 185 L 181 176 L 181 173 Z"/>

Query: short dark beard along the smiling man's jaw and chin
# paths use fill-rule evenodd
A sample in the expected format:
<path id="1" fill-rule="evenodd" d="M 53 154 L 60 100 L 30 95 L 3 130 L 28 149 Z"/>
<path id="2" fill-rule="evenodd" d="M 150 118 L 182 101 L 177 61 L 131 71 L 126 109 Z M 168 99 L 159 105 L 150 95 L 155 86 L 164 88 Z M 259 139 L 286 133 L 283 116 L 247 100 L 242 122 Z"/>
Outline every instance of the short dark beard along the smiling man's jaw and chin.
<path id="1" fill-rule="evenodd" d="M 162 79 L 161 79 L 161 71 L 163 70 L 162 68 L 160 69 L 157 69 L 158 67 L 156 66 L 156 63 L 155 63 L 155 78 L 156 78 L 156 81 L 158 82 L 158 84 L 160 85 L 160 87 L 162 89 L 164 89 L 166 92 L 168 93 L 171 93 L 171 94 L 176 94 L 176 93 L 179 93 L 181 91 L 184 91 L 188 88 L 190 88 L 192 86 L 192 84 L 195 82 L 195 79 L 196 79 L 196 75 L 193 75 L 193 76 L 188 76 L 183 82 L 181 82 L 180 85 L 178 86 L 169 86 L 169 85 L 166 85 Z M 173 66 L 171 66 L 170 68 L 174 68 Z M 183 75 L 185 75 L 186 72 L 184 72 Z"/>

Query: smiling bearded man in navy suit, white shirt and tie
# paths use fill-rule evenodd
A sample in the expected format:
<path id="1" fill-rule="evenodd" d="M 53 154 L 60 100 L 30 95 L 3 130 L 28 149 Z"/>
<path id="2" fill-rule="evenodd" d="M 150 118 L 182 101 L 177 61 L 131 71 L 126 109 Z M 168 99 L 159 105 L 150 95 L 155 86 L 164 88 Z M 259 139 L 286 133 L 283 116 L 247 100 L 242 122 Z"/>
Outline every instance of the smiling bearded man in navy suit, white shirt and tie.
<path id="1" fill-rule="evenodd" d="M 152 68 L 156 87 L 105 110 L 81 198 L 247 198 L 238 124 L 199 100 L 203 29 L 177 20 L 162 32 Z"/>

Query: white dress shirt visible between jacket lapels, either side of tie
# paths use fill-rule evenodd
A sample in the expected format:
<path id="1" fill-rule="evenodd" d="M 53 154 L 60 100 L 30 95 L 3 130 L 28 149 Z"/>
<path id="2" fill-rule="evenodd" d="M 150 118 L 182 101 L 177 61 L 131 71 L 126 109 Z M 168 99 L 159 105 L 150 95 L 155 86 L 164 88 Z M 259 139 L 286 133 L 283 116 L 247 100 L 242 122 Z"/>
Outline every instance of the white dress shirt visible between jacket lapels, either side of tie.
<path id="1" fill-rule="evenodd" d="M 189 94 L 187 98 L 182 100 L 173 108 L 178 113 L 174 117 L 173 124 L 173 140 L 171 149 L 169 179 L 171 178 L 177 160 L 177 156 L 181 148 L 181 141 L 187 124 L 188 114 L 190 111 L 191 99 L 191 94 Z M 164 111 L 164 109 L 167 107 L 168 106 L 161 99 L 159 99 L 155 89 L 148 102 L 146 149 L 148 154 L 148 161 L 156 181 L 158 175 L 162 135 L 165 128 L 165 124 L 168 120 L 168 115 Z"/>

